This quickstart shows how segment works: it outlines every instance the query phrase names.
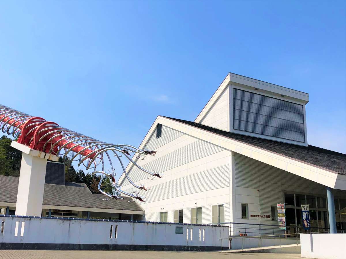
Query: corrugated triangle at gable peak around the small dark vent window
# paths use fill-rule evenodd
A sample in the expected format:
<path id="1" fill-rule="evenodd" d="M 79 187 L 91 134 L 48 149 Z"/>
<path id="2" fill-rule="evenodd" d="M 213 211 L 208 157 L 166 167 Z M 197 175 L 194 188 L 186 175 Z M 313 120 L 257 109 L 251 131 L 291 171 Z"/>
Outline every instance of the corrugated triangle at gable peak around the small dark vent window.
<path id="1" fill-rule="evenodd" d="M 149 138 L 144 148 L 153 151 L 156 148 L 161 147 L 167 144 L 168 142 L 176 138 L 179 138 L 182 135 L 184 135 L 184 133 L 162 125 L 161 137 L 156 138 L 156 129 L 155 129 L 155 131 L 153 132 L 152 136 Z"/>

